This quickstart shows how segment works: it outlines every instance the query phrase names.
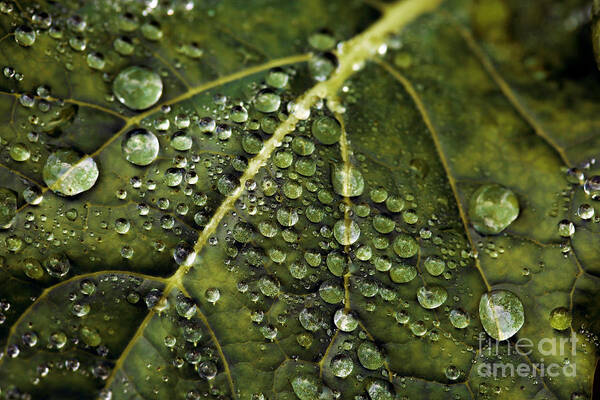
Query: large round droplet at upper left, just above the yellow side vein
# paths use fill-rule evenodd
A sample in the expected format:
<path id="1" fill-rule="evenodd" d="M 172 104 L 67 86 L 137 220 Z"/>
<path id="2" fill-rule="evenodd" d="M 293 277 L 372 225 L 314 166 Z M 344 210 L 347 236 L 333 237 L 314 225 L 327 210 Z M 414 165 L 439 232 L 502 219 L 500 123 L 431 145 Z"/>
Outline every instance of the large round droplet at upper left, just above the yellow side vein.
<path id="1" fill-rule="evenodd" d="M 162 90 L 160 76 L 148 68 L 138 66 L 119 72 L 113 82 L 113 92 L 117 99 L 133 110 L 143 110 L 156 104 Z"/>

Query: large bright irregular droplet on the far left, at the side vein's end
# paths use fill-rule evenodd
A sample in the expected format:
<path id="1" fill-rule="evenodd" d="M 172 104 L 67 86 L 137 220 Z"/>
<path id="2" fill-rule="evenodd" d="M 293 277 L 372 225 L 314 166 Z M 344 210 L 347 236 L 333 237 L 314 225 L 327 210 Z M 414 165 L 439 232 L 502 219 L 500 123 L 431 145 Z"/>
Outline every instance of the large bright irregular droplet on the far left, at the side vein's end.
<path id="1" fill-rule="evenodd" d="M 81 156 L 73 150 L 51 153 L 44 166 L 44 182 L 54 192 L 74 196 L 94 186 L 98 179 L 98 166 L 93 158 Z"/>

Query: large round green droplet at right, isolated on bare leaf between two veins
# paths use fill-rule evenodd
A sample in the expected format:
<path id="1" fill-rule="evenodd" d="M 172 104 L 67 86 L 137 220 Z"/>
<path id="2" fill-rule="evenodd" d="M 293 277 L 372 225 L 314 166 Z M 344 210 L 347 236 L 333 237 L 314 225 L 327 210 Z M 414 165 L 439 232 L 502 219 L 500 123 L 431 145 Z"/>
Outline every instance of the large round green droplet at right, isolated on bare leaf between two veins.
<path id="1" fill-rule="evenodd" d="M 519 215 L 519 200 L 512 190 L 496 184 L 483 185 L 473 194 L 469 216 L 483 235 L 496 235 Z"/>

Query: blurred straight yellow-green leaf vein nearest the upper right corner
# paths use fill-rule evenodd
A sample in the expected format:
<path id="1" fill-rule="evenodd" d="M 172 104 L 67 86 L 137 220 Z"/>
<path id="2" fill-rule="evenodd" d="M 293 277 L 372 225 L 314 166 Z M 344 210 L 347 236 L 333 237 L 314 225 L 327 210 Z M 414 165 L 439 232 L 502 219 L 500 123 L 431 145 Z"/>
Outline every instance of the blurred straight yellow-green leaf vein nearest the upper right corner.
<path id="1" fill-rule="evenodd" d="M 471 49 L 475 57 L 479 60 L 479 62 L 483 65 L 483 68 L 492 78 L 494 83 L 498 85 L 500 91 L 504 96 L 508 99 L 508 101 L 512 104 L 512 106 L 517 110 L 517 112 L 521 115 L 521 117 L 533 128 L 535 133 L 544 139 L 546 143 L 550 145 L 556 151 L 561 159 L 561 161 L 567 165 L 571 166 L 571 162 L 569 161 L 569 157 L 564 152 L 564 150 L 552 139 L 552 137 L 544 130 L 542 125 L 537 121 L 534 115 L 532 115 L 527 108 L 521 103 L 515 92 L 509 86 L 509 84 L 502 78 L 496 67 L 492 64 L 488 56 L 484 53 L 484 51 L 479 47 L 471 32 L 469 32 L 465 27 L 460 25 L 458 22 L 452 20 L 452 25 L 456 27 L 460 35 L 463 37 L 467 46 Z"/>

